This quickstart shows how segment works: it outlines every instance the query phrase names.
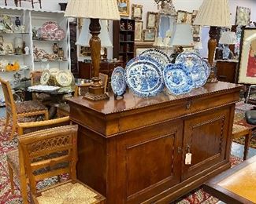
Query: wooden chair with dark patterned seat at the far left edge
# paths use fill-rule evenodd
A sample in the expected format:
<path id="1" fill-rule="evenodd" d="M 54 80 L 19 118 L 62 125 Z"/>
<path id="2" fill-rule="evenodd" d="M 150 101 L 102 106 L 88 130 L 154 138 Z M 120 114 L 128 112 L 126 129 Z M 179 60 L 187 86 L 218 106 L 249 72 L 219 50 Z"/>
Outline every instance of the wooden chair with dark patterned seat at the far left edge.
<path id="1" fill-rule="evenodd" d="M 21 122 L 31 122 L 33 119 L 35 120 L 35 118 L 31 118 L 31 116 L 38 115 L 44 115 L 44 118 L 46 120 L 48 119 L 48 110 L 41 102 L 37 100 L 28 100 L 15 103 L 9 82 L 6 82 L 2 78 L 0 78 L 0 82 L 6 102 L 6 125 L 4 131 L 7 129 L 10 117 L 13 119 L 13 128 L 9 137 L 10 140 L 13 139 L 13 135 L 17 129 L 18 120 Z"/>

